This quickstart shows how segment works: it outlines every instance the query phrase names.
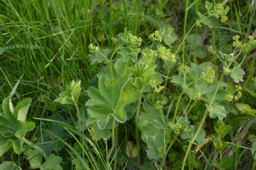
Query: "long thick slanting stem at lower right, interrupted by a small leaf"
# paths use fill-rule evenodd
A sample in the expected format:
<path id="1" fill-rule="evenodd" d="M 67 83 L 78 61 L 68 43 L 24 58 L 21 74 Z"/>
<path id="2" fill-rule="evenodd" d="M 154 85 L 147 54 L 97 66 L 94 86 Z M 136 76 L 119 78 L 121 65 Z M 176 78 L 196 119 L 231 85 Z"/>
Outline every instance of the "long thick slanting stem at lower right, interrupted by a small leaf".
<path id="1" fill-rule="evenodd" d="M 212 105 L 212 102 L 214 101 L 214 98 L 215 98 L 215 96 L 216 96 L 216 94 L 217 94 L 217 92 L 218 92 L 218 89 L 219 89 L 219 87 L 220 87 L 220 85 L 221 85 L 221 81 L 222 81 L 223 78 L 224 78 L 224 74 L 221 75 L 221 78 L 220 78 L 220 80 L 219 80 L 219 82 L 218 82 L 218 85 L 217 85 L 217 88 L 216 88 L 216 90 L 215 90 L 215 93 L 214 93 L 214 95 L 213 95 L 213 97 L 212 97 L 212 100 L 211 100 L 211 102 L 210 102 L 209 105 Z M 193 139 L 189 142 L 189 147 L 188 147 L 187 150 L 186 150 L 186 154 L 185 154 L 185 157 L 184 157 L 184 159 L 183 159 L 183 164 L 182 164 L 181 170 L 184 170 L 184 167 L 185 167 L 185 164 L 186 164 L 186 159 L 187 159 L 187 157 L 188 157 L 189 151 L 190 151 L 190 149 L 191 149 L 191 147 L 192 147 L 192 144 L 195 142 L 195 139 L 196 139 L 196 137 L 198 136 L 198 133 L 199 133 L 201 127 L 203 126 L 204 120 L 206 119 L 206 116 L 207 116 L 207 115 L 208 115 L 208 112 L 207 112 L 207 110 L 205 110 L 204 117 L 203 117 L 203 119 L 201 120 L 201 123 L 200 123 L 200 125 L 199 125 L 199 127 L 198 127 L 198 130 L 196 131 L 195 136 L 193 137 Z"/>

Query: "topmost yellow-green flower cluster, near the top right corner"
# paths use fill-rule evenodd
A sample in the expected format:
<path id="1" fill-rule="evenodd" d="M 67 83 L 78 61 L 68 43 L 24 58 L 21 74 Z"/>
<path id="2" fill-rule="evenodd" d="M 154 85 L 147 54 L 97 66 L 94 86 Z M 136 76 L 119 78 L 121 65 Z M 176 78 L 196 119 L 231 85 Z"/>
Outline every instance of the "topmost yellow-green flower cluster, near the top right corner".
<path id="1" fill-rule="evenodd" d="M 227 21 L 227 13 L 230 10 L 228 6 L 224 9 L 224 7 L 219 3 L 213 7 L 213 10 L 210 11 L 210 14 L 215 18 L 221 18 L 221 23 L 225 23 Z"/>

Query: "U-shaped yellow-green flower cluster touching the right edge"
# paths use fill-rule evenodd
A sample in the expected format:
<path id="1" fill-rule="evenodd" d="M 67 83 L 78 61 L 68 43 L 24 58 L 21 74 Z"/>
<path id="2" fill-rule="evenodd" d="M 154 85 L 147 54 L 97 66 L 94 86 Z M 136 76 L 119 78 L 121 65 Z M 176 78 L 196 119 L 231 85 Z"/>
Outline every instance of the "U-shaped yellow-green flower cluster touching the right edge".
<path id="1" fill-rule="evenodd" d="M 249 51 L 252 51 L 253 48 L 256 47 L 256 40 L 254 40 L 252 36 L 248 37 L 250 41 L 247 43 L 243 43 L 243 42 L 239 41 L 239 38 L 240 38 L 239 35 L 233 36 L 233 40 L 234 40 L 233 46 L 236 48 L 240 48 L 240 51 L 249 52 Z"/>

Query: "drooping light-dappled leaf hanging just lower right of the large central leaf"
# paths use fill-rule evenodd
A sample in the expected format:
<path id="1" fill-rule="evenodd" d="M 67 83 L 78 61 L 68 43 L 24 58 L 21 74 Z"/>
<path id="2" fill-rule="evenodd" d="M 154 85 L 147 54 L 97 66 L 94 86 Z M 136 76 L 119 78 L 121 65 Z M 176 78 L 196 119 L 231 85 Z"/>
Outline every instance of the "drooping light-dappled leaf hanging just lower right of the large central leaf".
<path id="1" fill-rule="evenodd" d="M 159 159 L 166 150 L 167 138 L 170 137 L 171 130 L 166 127 L 168 119 L 161 117 L 160 111 L 148 103 L 143 103 L 145 114 L 139 116 L 139 129 L 141 137 L 147 144 L 147 156 L 149 159 Z M 164 121 L 164 122 L 163 122 Z M 160 152 L 161 150 L 163 152 Z"/>

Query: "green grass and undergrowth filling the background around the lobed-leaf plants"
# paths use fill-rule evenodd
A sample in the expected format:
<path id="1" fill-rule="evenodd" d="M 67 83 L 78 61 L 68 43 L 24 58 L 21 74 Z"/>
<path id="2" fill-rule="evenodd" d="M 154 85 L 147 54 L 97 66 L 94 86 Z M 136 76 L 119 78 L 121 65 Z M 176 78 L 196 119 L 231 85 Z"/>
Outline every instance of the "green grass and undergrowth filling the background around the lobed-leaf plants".
<path id="1" fill-rule="evenodd" d="M 212 2 L 222 3 L 219 0 Z M 27 121 L 35 122 L 36 127 L 26 133 L 26 139 L 39 147 L 43 147 L 43 144 L 45 146 L 52 144 L 51 146 L 56 149 L 48 148 L 48 151 L 47 147 L 44 147 L 45 151 L 48 151 L 47 154 L 54 153 L 61 156 L 63 169 L 76 167 L 79 170 L 76 162 L 71 161 L 78 159 L 80 163 L 77 164 L 81 165 L 81 168 L 86 169 L 88 165 L 95 170 L 179 169 L 182 166 L 189 170 L 208 170 L 214 169 L 214 161 L 220 162 L 230 149 L 233 151 L 230 169 L 255 169 L 256 161 L 251 153 L 251 141 L 255 139 L 249 140 L 249 136 L 256 133 L 256 119 L 245 114 L 234 114 L 239 113 L 236 103 L 244 103 L 250 105 L 252 109 L 256 108 L 255 97 L 249 91 L 244 91 L 245 89 L 255 91 L 252 79 L 256 76 L 255 49 L 247 53 L 241 65 L 245 71 L 244 81 L 240 83 L 242 97 L 231 103 L 232 110 L 224 118 L 224 122 L 232 126 L 232 129 L 221 139 L 229 144 L 222 151 L 221 156 L 212 142 L 205 144 L 195 154 L 197 145 L 192 145 L 195 138 L 189 143 L 181 140 L 180 136 L 173 135 L 172 143 L 167 145 L 169 154 L 162 159 L 149 160 L 146 155 L 146 144 L 139 138 L 140 131 L 136 126 L 137 116 L 145 113 L 140 107 L 141 102 L 151 101 L 150 103 L 154 104 L 158 99 L 162 99 L 167 103 L 163 112 L 169 115 L 169 119 L 184 113 L 191 125 L 198 125 L 206 131 L 206 137 L 211 137 L 215 133 L 214 126 L 217 125 L 217 119 L 207 116 L 205 103 L 200 100 L 189 102 L 188 95 L 183 94 L 181 88 L 169 80 L 177 76 L 179 65 L 191 65 L 192 62 L 209 65 L 211 62 L 210 65 L 215 70 L 217 78 L 235 84 L 233 79 L 222 74 L 222 63 L 217 54 L 218 51 L 233 53 L 232 37 L 236 34 L 243 42 L 248 42 L 247 35 L 254 35 L 255 38 L 256 4 L 253 5 L 252 2 L 229 0 L 226 4 L 230 7 L 228 21 L 223 24 L 212 18 L 213 28 L 209 28 L 195 24 L 195 18 L 198 18 L 197 11 L 201 11 L 202 14 L 206 12 L 205 2 L 202 0 L 170 2 L 165 0 L 2 0 L 0 2 L 0 101 L 9 96 L 22 77 L 12 102 L 16 105 L 26 97 L 32 98 Z M 133 35 L 143 39 L 141 45 L 143 48 L 150 48 L 151 44 L 147 43 L 148 35 L 155 30 L 163 29 L 166 24 L 174 28 L 175 34 L 172 37 L 176 35 L 177 39 L 172 44 L 165 42 L 162 44 L 172 49 L 177 62 L 169 65 L 163 60 L 157 61 L 157 69 L 165 80 L 162 84 L 166 87 L 160 92 L 162 96 L 153 94 L 152 97 L 152 94 L 143 94 L 143 100 L 140 98 L 135 103 L 137 105 L 133 111 L 135 118 L 117 127 L 113 126 L 112 133 L 115 136 L 113 139 L 95 141 L 90 135 L 91 129 L 87 130 L 87 127 L 83 126 L 86 128 L 84 132 L 77 130 L 75 127 L 84 125 L 88 119 L 87 107 L 84 104 L 90 97 L 86 90 L 90 86 L 97 88 L 98 77 L 105 73 L 104 63 L 90 65 L 89 58 L 92 54 L 88 45 L 96 42 L 100 48 L 114 51 L 117 48 L 118 34 L 127 28 Z M 119 54 L 113 55 L 113 61 L 118 57 Z M 241 62 L 242 58 L 237 61 Z M 132 65 L 132 61 L 129 61 L 129 64 Z M 72 79 L 81 80 L 78 107 L 54 103 L 53 100 Z M 158 99 L 155 99 L 157 97 Z M 78 108 L 83 122 L 79 121 L 76 125 Z M 0 113 L 2 112 L 1 106 Z M 236 133 L 238 136 L 234 137 Z M 237 144 L 243 135 L 245 137 L 242 137 L 241 143 Z M 126 155 L 128 141 L 138 143 L 140 146 L 135 158 Z M 62 148 L 58 147 L 59 145 Z M 112 153 L 109 152 L 111 146 Z M 190 147 L 191 149 L 187 149 Z M 29 169 L 29 161 L 24 153 L 19 156 L 13 149 L 9 149 L 0 157 L 0 163 L 13 161 L 17 169 Z M 182 161 L 184 158 L 187 161 Z"/>

